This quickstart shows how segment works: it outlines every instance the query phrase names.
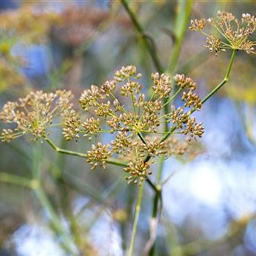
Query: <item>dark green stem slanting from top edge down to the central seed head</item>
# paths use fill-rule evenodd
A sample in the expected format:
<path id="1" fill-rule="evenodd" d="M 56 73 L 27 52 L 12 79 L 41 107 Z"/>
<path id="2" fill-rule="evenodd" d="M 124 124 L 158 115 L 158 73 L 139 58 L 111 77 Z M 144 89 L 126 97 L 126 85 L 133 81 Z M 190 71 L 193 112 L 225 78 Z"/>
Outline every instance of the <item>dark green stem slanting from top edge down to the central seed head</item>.
<path id="1" fill-rule="evenodd" d="M 143 30 L 143 27 L 138 22 L 138 19 L 136 18 L 135 14 L 132 12 L 132 10 L 129 8 L 129 5 L 127 4 L 126 0 L 120 0 L 121 4 L 123 4 L 124 9 L 127 11 L 129 18 L 132 20 L 133 25 L 135 26 L 135 29 L 138 31 L 140 36 L 143 39 L 143 42 L 148 50 L 148 53 L 151 56 L 152 61 L 154 62 L 154 66 L 156 67 L 157 71 L 162 73 L 164 72 L 164 69 L 162 68 L 162 64 L 160 63 L 156 50 L 154 49 L 151 42 L 148 41 L 148 38 L 146 37 L 146 34 Z"/>

